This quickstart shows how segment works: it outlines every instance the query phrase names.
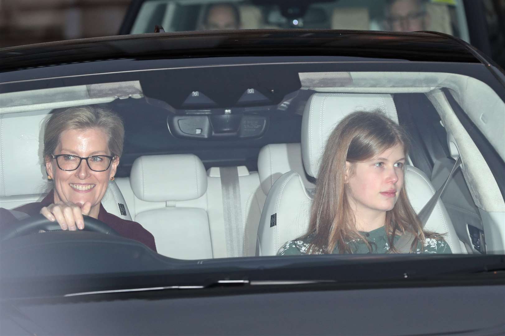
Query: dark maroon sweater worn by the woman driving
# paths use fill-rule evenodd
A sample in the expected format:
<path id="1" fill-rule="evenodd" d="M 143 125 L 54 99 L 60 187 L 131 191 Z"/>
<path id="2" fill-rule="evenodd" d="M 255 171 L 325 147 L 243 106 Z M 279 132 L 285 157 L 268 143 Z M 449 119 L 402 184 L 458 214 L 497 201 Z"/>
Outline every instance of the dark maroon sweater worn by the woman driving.
<path id="1" fill-rule="evenodd" d="M 41 202 L 25 204 L 13 210 L 34 216 L 40 213 L 40 209 L 47 207 L 53 203 L 54 190 L 51 190 Z M 144 229 L 139 223 L 133 222 L 131 220 L 121 219 L 116 215 L 108 213 L 102 204 L 100 204 L 98 220 L 112 227 L 119 233 L 119 235 L 125 238 L 134 239 L 135 241 L 138 241 L 156 251 L 155 237 L 149 231 Z M 0 208 L 0 221 L 0 227 L 7 227 L 17 222 L 18 220 L 9 211 Z"/>

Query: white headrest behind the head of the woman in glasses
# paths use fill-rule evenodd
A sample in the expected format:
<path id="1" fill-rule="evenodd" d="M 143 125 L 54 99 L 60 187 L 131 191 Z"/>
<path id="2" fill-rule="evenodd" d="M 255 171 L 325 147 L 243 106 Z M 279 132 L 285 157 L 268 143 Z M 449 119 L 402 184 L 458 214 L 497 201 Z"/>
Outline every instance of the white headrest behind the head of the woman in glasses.
<path id="1" fill-rule="evenodd" d="M 44 194 L 51 189 L 40 131 L 48 112 L 0 114 L 0 196 Z"/>

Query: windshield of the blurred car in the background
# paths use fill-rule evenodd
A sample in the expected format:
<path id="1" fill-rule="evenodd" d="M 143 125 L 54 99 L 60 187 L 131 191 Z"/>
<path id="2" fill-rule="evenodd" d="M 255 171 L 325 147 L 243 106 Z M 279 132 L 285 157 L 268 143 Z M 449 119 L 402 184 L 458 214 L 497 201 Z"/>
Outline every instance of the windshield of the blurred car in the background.
<path id="1" fill-rule="evenodd" d="M 147 0 L 130 33 L 263 28 L 432 30 L 469 41 L 463 1 Z"/>

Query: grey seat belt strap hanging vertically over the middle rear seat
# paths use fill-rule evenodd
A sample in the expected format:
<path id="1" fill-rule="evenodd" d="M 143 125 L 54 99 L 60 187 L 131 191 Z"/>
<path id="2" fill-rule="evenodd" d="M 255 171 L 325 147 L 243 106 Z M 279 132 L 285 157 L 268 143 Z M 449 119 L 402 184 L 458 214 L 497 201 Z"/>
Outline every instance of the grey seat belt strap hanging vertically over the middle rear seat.
<path id="1" fill-rule="evenodd" d="M 228 257 L 243 257 L 242 203 L 237 167 L 220 167 L 223 217 Z"/>

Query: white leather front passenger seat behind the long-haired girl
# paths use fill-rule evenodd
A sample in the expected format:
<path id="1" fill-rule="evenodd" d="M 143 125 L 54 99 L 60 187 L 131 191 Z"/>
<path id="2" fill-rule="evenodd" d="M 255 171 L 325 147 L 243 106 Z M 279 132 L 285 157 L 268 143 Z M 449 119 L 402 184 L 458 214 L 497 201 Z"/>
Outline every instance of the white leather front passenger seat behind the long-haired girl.
<path id="1" fill-rule="evenodd" d="M 305 171 L 317 178 L 319 162 L 329 133 L 351 112 L 379 109 L 398 121 L 390 94 L 314 93 L 309 99 L 301 127 L 301 151 Z M 406 190 L 409 200 L 419 212 L 435 193 L 429 179 L 419 169 L 406 168 Z M 307 232 L 312 196 L 300 174 L 283 174 L 271 187 L 263 208 L 258 229 L 257 255 L 275 255 L 287 241 Z M 439 200 L 425 226 L 426 230 L 446 233 L 445 240 L 453 253 L 463 253 L 461 242 L 445 207 Z"/>

